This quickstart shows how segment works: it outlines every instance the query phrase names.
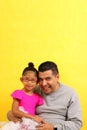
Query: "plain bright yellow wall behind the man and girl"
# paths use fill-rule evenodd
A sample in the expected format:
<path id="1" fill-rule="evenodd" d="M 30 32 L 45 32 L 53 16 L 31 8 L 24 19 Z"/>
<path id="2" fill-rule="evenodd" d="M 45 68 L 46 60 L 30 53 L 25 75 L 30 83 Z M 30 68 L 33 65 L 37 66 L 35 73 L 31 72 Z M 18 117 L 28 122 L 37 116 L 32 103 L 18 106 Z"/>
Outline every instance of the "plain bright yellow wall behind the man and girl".
<path id="1" fill-rule="evenodd" d="M 56 62 L 75 88 L 87 129 L 87 0 L 0 0 L 0 121 L 29 61 Z"/>

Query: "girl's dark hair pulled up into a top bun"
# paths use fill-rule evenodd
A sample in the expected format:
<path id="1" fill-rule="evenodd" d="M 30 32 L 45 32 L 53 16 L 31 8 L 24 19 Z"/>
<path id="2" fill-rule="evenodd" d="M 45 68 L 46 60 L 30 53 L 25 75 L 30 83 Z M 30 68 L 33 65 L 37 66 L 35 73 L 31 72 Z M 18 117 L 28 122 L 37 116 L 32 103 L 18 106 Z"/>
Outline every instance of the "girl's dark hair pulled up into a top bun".
<path id="1" fill-rule="evenodd" d="M 26 74 L 27 71 L 33 71 L 36 75 L 36 77 L 38 77 L 38 71 L 36 68 L 34 68 L 34 64 L 32 62 L 28 63 L 28 67 L 26 67 L 23 72 L 22 72 L 22 76 Z"/>

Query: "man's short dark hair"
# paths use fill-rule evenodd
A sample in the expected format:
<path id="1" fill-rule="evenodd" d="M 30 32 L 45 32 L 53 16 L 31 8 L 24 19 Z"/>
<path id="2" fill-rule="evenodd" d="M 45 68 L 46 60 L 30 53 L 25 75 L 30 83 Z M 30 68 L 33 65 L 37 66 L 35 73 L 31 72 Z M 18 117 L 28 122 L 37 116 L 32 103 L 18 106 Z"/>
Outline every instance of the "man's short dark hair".
<path id="1" fill-rule="evenodd" d="M 52 61 L 43 62 L 38 67 L 38 71 L 40 71 L 40 72 L 44 72 L 44 71 L 47 71 L 47 70 L 52 70 L 52 72 L 54 74 L 59 73 L 57 65 Z"/>

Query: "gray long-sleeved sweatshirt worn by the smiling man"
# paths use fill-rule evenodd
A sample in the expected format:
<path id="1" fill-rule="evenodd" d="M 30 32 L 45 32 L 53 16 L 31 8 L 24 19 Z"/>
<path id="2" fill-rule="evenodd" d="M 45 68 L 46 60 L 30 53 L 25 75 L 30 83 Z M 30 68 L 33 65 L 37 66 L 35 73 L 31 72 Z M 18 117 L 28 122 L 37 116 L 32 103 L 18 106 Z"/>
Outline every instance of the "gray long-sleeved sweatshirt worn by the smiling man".
<path id="1" fill-rule="evenodd" d="M 36 113 L 57 130 L 80 130 L 82 112 L 80 101 L 74 89 L 60 83 L 60 87 L 51 94 L 44 94 L 44 104 L 38 106 Z"/>

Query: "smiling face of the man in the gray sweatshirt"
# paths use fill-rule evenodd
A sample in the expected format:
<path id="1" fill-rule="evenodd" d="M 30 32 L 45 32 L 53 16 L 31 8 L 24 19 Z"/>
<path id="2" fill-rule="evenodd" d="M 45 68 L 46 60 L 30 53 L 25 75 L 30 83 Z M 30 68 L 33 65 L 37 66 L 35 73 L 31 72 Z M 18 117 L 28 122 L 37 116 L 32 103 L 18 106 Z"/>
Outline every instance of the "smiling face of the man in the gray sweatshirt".
<path id="1" fill-rule="evenodd" d="M 59 75 L 52 70 L 39 72 L 39 85 L 45 94 L 50 94 L 58 88 Z"/>

